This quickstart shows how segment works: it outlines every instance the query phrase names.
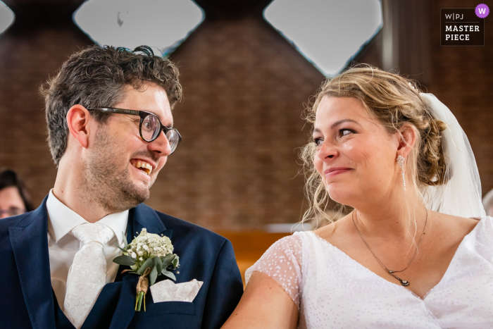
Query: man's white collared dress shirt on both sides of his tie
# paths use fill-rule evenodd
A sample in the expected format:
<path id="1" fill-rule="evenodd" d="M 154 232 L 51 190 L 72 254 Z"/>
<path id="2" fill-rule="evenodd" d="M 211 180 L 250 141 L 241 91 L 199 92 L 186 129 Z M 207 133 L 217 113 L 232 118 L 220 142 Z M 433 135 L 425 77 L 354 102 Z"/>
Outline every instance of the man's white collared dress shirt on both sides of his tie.
<path id="1" fill-rule="evenodd" d="M 72 235 L 72 230 L 78 225 L 89 222 L 56 199 L 53 190 L 50 190 L 48 200 L 46 200 L 46 210 L 48 211 L 48 252 L 51 287 L 55 292 L 58 306 L 63 311 L 68 271 L 72 266 L 75 253 L 82 247 L 79 240 Z M 97 222 L 107 225 L 114 233 L 111 240 L 104 245 L 104 256 L 106 256 L 107 263 L 106 283 L 115 281 L 118 264 L 113 263 L 113 259 L 122 254 L 120 249 L 115 246 L 115 242 L 118 242 L 120 247 L 123 247 L 122 232 L 126 236 L 127 221 L 128 211 L 126 210 L 121 213 L 111 213 Z"/>

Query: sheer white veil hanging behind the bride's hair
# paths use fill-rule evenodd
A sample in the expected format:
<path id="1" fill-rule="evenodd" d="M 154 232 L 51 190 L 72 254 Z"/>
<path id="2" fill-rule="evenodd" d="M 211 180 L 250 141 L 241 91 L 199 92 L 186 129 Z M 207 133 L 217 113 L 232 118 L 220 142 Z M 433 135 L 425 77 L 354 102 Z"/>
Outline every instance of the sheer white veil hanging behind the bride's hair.
<path id="1" fill-rule="evenodd" d="M 423 191 L 425 206 L 433 211 L 461 217 L 485 216 L 481 202 L 481 181 L 478 166 L 468 137 L 449 108 L 433 94 L 420 93 L 432 116 L 447 124 L 442 132 L 447 169 L 447 184 L 428 186 Z M 447 181 L 447 180 L 446 180 Z"/>

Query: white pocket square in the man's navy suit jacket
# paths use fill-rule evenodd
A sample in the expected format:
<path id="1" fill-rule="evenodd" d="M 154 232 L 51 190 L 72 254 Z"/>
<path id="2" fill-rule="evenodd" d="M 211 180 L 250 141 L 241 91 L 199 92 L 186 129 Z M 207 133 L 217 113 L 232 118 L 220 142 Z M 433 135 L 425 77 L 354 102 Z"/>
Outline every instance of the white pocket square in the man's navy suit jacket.
<path id="1" fill-rule="evenodd" d="M 151 285 L 151 294 L 154 303 L 159 302 L 192 302 L 199 293 L 203 282 L 192 280 L 188 283 L 174 283 L 163 280 Z"/>

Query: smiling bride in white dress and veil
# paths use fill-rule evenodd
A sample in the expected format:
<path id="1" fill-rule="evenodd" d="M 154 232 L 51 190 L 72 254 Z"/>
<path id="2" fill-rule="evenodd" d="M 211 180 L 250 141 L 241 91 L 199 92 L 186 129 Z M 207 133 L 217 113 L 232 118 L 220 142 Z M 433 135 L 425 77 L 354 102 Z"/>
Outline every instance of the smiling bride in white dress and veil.
<path id="1" fill-rule="evenodd" d="M 356 67 L 325 82 L 308 122 L 305 218 L 329 197 L 354 211 L 275 242 L 223 328 L 493 328 L 493 218 L 447 106 Z"/>

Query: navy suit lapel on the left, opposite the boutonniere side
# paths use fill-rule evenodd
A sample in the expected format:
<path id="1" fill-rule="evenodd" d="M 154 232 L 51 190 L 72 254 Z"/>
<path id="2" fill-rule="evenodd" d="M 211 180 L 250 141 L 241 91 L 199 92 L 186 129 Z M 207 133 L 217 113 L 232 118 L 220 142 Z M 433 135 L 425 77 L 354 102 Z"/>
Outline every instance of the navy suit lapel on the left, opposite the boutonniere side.
<path id="1" fill-rule="evenodd" d="M 55 328 L 46 198 L 38 209 L 8 230 L 32 328 Z"/>

